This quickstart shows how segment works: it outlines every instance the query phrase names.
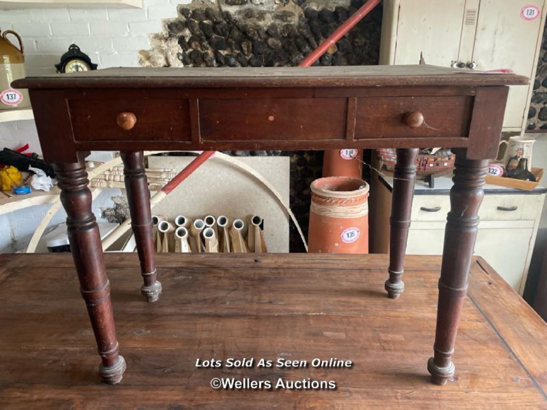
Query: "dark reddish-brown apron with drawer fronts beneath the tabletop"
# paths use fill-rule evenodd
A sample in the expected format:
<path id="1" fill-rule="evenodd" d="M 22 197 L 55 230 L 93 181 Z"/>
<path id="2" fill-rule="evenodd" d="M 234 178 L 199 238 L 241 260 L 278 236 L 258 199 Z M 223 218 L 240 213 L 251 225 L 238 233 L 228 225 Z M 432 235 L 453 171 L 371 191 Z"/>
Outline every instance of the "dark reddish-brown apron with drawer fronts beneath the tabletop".
<path id="1" fill-rule="evenodd" d="M 44 158 L 92 150 L 473 148 L 495 156 L 506 86 L 34 89 Z M 505 97 L 504 97 L 505 95 Z M 423 124 L 406 124 L 420 112 Z M 131 113 L 129 129 L 117 116 Z"/>

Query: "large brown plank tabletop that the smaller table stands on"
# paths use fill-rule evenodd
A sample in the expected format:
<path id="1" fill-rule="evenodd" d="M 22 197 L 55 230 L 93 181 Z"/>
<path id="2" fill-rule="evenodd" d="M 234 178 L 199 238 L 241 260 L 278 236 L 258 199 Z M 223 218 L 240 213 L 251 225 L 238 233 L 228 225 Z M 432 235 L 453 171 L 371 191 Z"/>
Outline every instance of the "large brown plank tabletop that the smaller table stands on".
<path id="1" fill-rule="evenodd" d="M 0 403 L 11 408 L 546 408 L 547 325 L 474 259 L 455 378 L 427 383 L 440 257 L 408 256 L 385 297 L 386 255 L 157 255 L 156 303 L 135 254 L 107 254 L 131 371 L 98 383 L 96 345 L 69 254 L 0 255 Z M 197 358 L 315 357 L 351 369 L 200 369 Z M 213 390 L 213 377 L 333 379 L 336 390 Z M 441 400 L 443 402 L 441 403 Z"/>

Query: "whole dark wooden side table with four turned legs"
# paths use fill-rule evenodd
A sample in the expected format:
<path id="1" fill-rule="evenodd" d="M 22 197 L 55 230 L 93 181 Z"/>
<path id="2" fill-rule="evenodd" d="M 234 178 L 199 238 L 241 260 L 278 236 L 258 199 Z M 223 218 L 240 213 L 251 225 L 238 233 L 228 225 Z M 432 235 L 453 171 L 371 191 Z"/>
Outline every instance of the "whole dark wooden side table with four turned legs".
<path id="1" fill-rule="evenodd" d="M 388 296 L 401 280 L 418 147 L 456 153 L 450 193 L 432 382 L 454 373 L 456 341 L 479 224 L 488 159 L 496 156 L 509 87 L 528 79 L 433 66 L 311 68 L 115 68 L 14 81 L 30 89 L 46 161 L 55 166 L 72 255 L 107 383 L 119 383 L 118 353 L 101 239 L 84 159 L 120 150 L 137 241 L 142 293 L 156 301 L 149 192 L 143 150 L 397 148 Z M 184 263 L 184 255 L 181 255 Z"/>

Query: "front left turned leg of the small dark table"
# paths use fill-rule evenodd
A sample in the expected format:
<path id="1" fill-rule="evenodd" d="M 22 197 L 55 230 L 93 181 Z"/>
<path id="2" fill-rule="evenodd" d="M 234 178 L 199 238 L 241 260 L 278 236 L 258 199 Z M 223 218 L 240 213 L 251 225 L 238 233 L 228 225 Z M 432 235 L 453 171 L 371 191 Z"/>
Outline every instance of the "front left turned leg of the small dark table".
<path id="1" fill-rule="evenodd" d="M 104 382 L 119 383 L 125 360 L 118 354 L 114 315 L 110 302 L 110 283 L 104 268 L 101 236 L 91 212 L 91 192 L 84 161 L 54 165 L 61 202 L 67 213 L 67 231 L 80 291 L 88 308 L 102 364 Z"/>

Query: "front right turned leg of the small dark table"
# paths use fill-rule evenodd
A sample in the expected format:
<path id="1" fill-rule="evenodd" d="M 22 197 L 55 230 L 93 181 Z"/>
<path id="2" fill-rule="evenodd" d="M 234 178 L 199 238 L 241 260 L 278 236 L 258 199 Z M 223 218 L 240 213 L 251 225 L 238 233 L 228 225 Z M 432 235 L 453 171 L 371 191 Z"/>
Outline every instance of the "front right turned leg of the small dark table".
<path id="1" fill-rule="evenodd" d="M 446 384 L 454 374 L 452 355 L 456 342 L 467 277 L 479 226 L 479 207 L 484 192 L 488 160 L 467 160 L 465 150 L 456 151 L 450 212 L 446 218 L 443 262 L 439 280 L 437 331 L 434 357 L 427 362 L 431 381 Z"/>

